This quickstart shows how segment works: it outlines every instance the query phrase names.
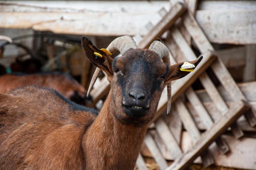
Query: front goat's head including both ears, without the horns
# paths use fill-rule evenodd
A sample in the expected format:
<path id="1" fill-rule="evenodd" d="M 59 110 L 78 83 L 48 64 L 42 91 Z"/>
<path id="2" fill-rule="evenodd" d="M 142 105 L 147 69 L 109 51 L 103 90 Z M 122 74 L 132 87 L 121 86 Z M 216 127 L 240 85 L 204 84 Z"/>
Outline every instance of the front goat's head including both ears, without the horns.
<path id="1" fill-rule="evenodd" d="M 141 126 L 150 122 L 164 87 L 189 73 L 180 70 L 184 63 L 170 66 L 162 62 L 154 50 L 130 48 L 112 59 L 85 37 L 82 46 L 90 61 L 106 72 L 111 84 L 110 112 L 124 124 Z M 95 52 L 102 57 L 95 57 Z M 201 59 L 190 63 L 197 66 Z"/>

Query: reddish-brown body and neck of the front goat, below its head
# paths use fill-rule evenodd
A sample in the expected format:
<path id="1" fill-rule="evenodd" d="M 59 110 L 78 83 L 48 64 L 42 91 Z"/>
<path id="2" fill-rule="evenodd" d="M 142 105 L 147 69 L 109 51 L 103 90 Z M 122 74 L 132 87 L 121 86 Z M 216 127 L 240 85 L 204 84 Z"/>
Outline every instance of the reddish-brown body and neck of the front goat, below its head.
<path id="1" fill-rule="evenodd" d="M 110 99 L 98 115 L 46 88 L 0 94 L 0 169 L 132 169 L 147 128 L 115 120 Z"/>

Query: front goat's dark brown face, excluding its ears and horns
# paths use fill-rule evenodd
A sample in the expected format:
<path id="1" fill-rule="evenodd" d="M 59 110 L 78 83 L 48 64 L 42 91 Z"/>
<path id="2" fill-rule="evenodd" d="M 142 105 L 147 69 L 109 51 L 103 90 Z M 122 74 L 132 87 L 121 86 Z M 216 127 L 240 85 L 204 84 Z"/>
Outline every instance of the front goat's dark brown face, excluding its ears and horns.
<path id="1" fill-rule="evenodd" d="M 112 70 L 113 108 L 120 109 L 115 114 L 116 118 L 138 126 L 148 123 L 155 115 L 165 87 L 167 65 L 151 50 L 130 49 L 113 61 Z M 136 99 L 130 95 L 131 92 L 143 94 L 143 98 Z"/>

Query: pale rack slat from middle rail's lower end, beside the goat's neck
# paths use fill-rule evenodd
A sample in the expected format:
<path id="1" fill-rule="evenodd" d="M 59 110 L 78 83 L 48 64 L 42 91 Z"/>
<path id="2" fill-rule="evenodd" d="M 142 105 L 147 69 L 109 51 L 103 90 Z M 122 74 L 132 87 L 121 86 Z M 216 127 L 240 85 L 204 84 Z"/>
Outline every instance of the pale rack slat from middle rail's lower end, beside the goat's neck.
<path id="1" fill-rule="evenodd" d="M 178 145 L 163 118 L 159 118 L 157 121 L 155 121 L 155 129 L 174 159 L 182 155 L 180 146 Z"/>

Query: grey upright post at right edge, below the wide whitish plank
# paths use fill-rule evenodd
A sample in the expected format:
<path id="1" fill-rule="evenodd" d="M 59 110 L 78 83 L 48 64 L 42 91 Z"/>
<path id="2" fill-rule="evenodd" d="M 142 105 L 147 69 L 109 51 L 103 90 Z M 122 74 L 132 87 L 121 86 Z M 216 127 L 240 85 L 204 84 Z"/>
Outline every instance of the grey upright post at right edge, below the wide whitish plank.
<path id="1" fill-rule="evenodd" d="M 256 78 L 256 45 L 246 45 L 246 65 L 244 70 L 244 82 L 253 81 Z"/>

